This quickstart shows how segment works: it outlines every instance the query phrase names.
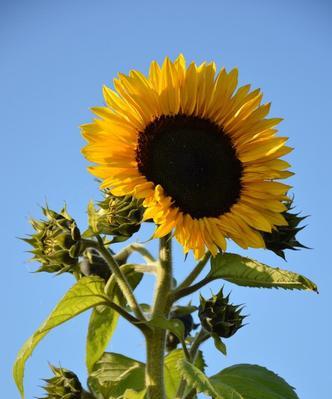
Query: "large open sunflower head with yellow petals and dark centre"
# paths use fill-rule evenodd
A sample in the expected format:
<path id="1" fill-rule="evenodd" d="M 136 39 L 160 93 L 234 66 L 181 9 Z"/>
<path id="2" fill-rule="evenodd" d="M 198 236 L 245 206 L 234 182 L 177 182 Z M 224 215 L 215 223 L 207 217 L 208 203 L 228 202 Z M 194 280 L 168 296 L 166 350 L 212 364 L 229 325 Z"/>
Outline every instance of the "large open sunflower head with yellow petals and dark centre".
<path id="1" fill-rule="evenodd" d="M 143 199 L 154 236 L 173 231 L 196 258 L 224 251 L 228 238 L 264 248 L 262 232 L 287 225 L 290 186 L 276 180 L 292 175 L 280 159 L 291 148 L 276 136 L 281 119 L 266 118 L 260 90 L 237 80 L 237 69 L 166 57 L 148 76 L 119 74 L 115 90 L 103 88 L 106 106 L 82 126 L 101 187 Z"/>

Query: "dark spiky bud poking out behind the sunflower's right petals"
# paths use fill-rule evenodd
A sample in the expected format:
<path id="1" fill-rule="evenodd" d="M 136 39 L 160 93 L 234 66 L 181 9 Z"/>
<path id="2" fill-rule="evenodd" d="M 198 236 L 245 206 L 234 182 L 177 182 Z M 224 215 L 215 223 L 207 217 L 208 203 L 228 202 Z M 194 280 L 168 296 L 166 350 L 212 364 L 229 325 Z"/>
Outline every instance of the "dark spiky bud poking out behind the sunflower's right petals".
<path id="1" fill-rule="evenodd" d="M 285 249 L 297 250 L 298 248 L 307 248 L 296 239 L 296 234 L 305 227 L 298 227 L 298 225 L 306 216 L 299 216 L 299 213 L 290 212 L 293 209 L 292 204 L 293 200 L 289 201 L 286 204 L 287 210 L 282 213 L 288 225 L 277 226 L 271 233 L 263 233 L 266 248 L 283 259 L 285 259 Z"/>

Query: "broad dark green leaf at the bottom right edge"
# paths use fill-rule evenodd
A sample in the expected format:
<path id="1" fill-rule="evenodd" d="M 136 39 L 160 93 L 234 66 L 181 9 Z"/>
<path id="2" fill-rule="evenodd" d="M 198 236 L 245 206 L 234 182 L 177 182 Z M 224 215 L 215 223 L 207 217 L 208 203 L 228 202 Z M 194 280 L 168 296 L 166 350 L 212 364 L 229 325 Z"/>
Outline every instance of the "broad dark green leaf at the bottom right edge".
<path id="1" fill-rule="evenodd" d="M 243 399 L 299 399 L 284 379 L 261 366 L 234 365 L 212 376 L 210 381 L 218 392 L 227 386 Z"/>

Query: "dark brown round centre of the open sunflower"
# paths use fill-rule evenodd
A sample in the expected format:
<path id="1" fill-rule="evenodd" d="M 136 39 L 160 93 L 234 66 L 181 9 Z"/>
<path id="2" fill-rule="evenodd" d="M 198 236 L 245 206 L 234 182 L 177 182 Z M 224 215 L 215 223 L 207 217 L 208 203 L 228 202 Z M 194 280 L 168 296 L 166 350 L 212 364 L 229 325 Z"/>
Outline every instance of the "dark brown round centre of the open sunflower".
<path id="1" fill-rule="evenodd" d="M 241 192 L 242 163 L 221 127 L 196 116 L 161 116 L 138 137 L 139 171 L 193 218 L 228 212 Z"/>

